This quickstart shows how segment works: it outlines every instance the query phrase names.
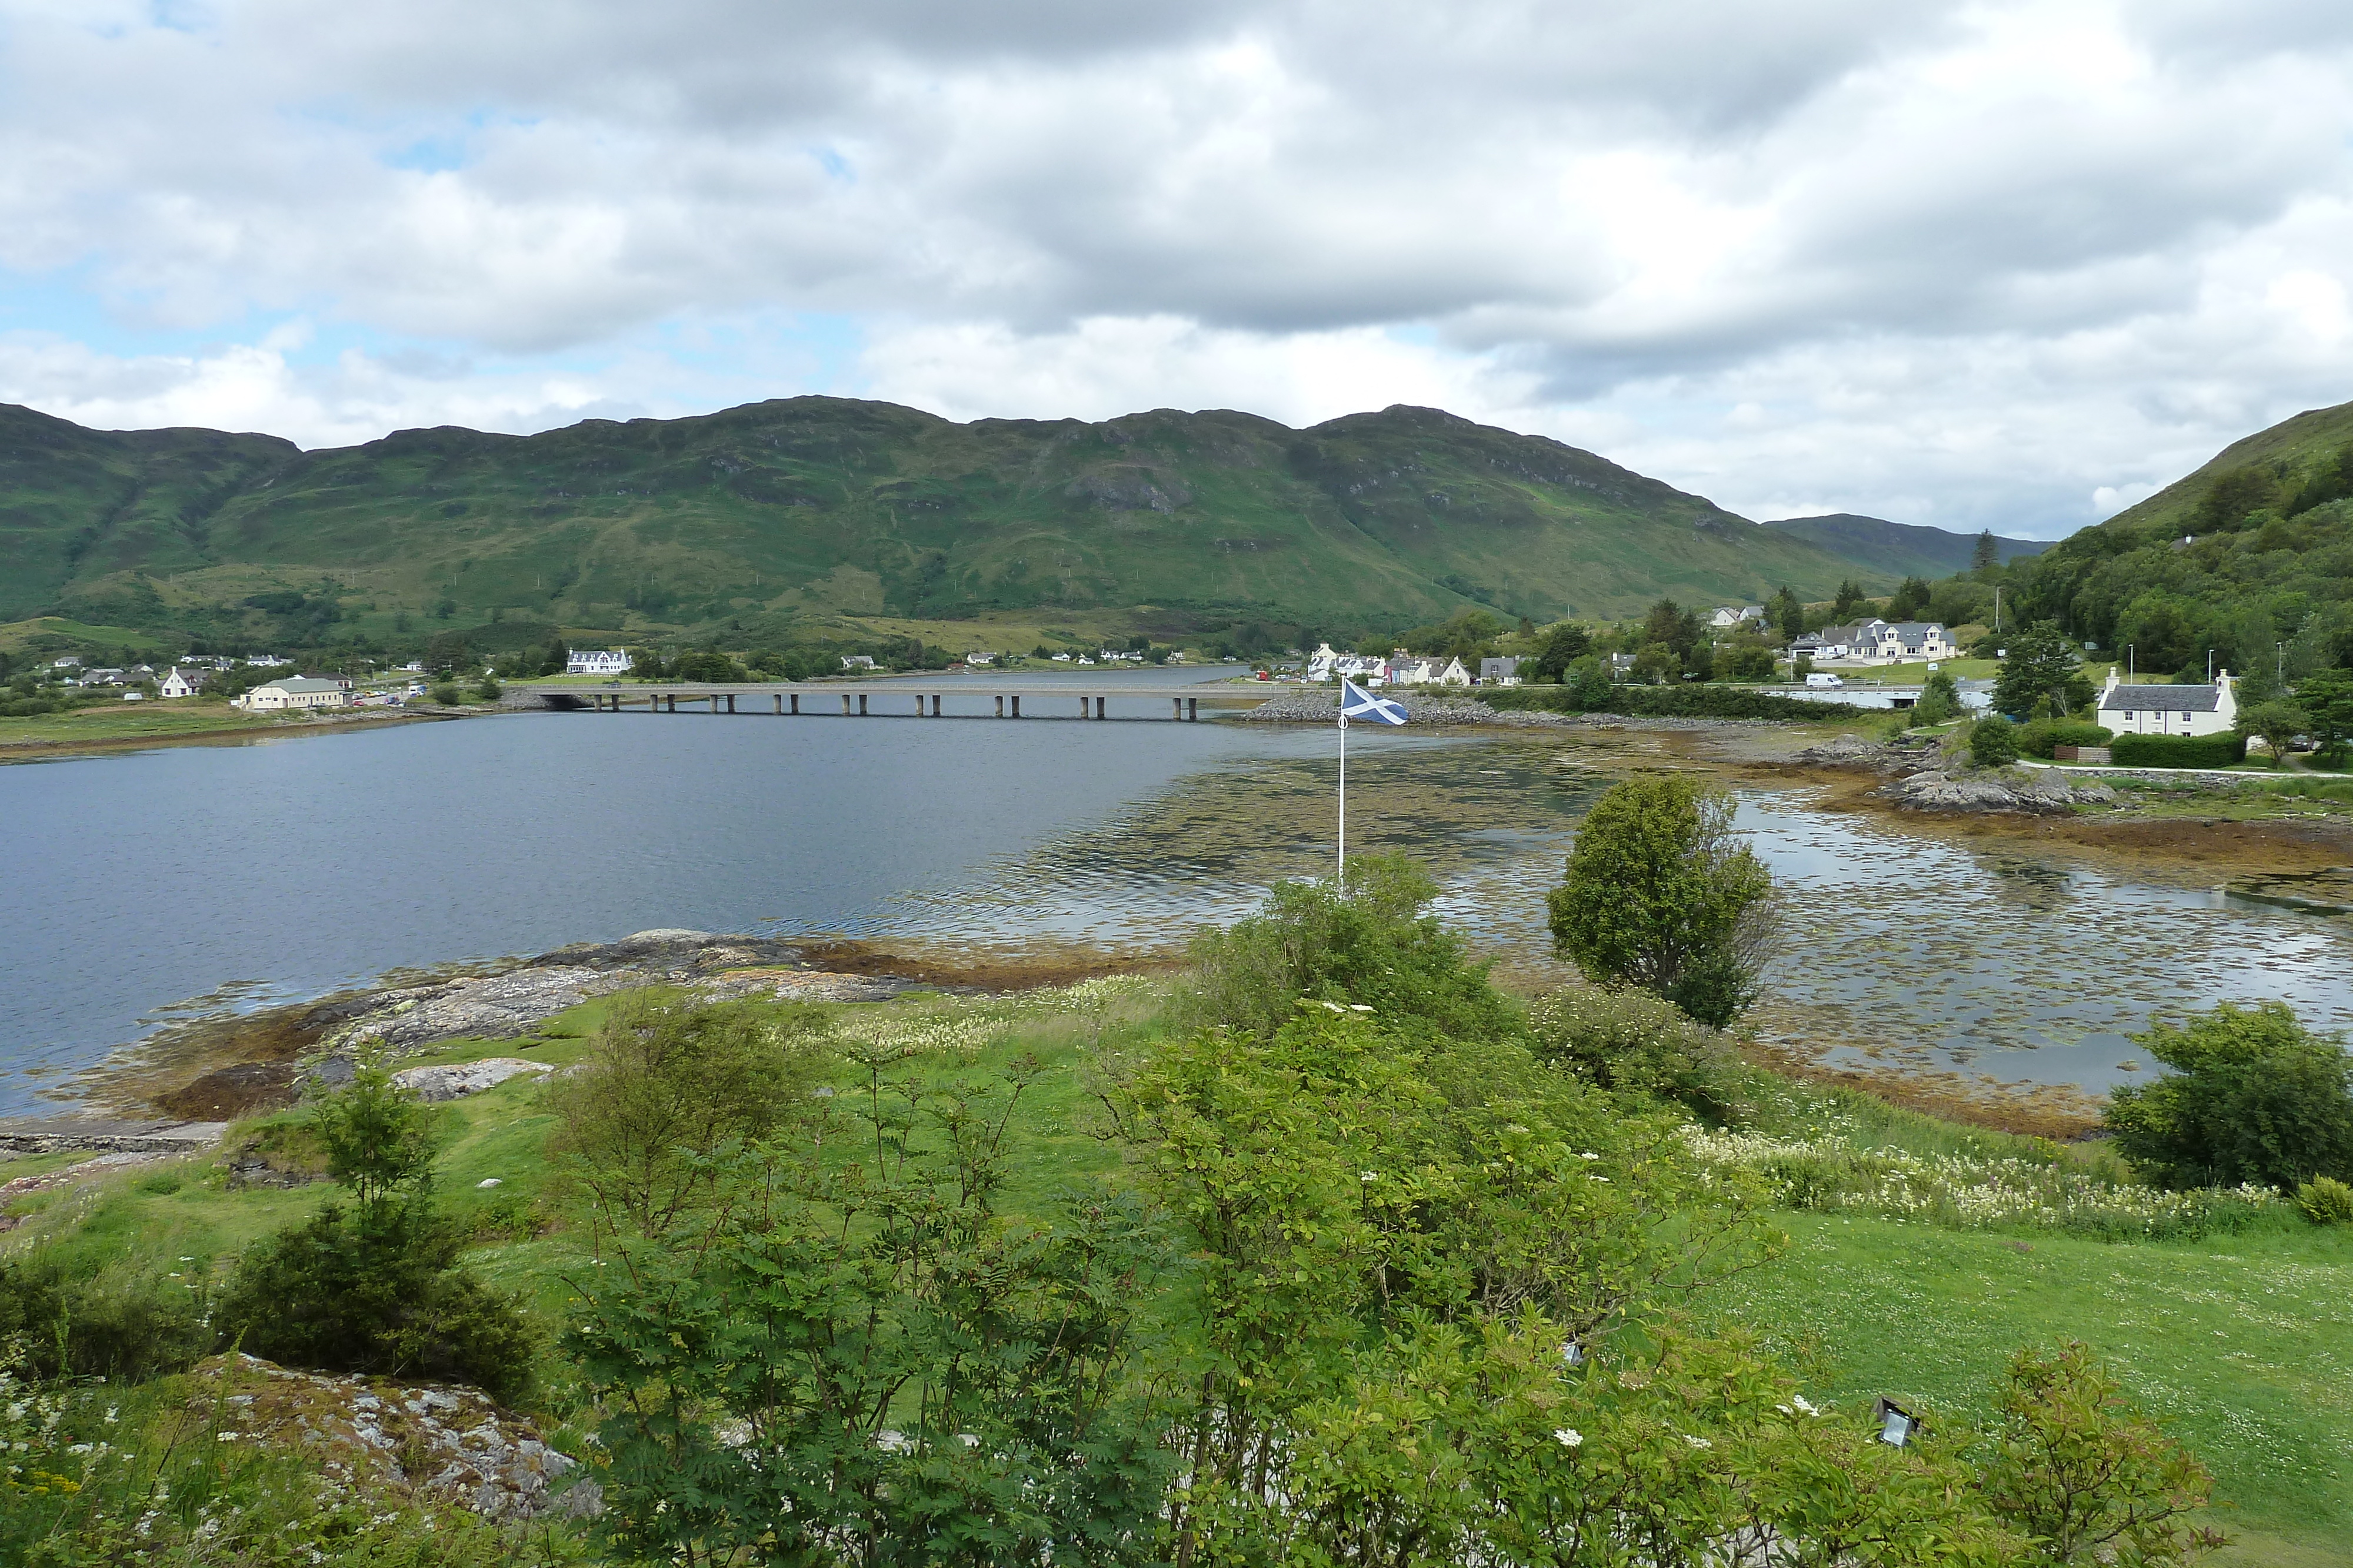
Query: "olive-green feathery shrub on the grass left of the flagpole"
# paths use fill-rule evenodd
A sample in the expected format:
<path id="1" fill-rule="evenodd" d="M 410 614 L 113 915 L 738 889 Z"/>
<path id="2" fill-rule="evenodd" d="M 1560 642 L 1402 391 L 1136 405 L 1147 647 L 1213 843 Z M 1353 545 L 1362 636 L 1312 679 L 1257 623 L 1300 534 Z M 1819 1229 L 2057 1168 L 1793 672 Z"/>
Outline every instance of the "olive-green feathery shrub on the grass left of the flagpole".
<path id="1" fill-rule="evenodd" d="M 548 1088 L 548 1154 L 605 1222 L 659 1237 L 711 1192 L 711 1157 L 774 1133 L 833 1060 L 816 1009 L 619 997 L 588 1070 Z"/>

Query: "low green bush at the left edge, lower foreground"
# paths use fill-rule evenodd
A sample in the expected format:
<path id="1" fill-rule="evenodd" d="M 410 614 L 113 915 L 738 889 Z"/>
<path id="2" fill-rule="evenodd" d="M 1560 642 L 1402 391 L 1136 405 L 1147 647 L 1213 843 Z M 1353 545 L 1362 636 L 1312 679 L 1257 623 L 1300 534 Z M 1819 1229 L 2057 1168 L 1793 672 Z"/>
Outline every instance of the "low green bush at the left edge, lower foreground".
<path id="1" fill-rule="evenodd" d="M 35 1378 L 174 1373 L 212 1349 L 202 1279 L 202 1260 L 106 1258 L 42 1241 L 0 1260 L 0 1345 L 21 1338 Z"/>

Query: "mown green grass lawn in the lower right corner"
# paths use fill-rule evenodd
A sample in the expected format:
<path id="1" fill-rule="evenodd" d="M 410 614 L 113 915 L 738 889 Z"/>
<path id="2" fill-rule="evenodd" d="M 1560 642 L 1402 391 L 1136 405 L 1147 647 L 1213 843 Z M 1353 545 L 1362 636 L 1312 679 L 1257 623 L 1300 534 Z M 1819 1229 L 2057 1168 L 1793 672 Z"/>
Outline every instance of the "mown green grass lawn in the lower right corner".
<path id="1" fill-rule="evenodd" d="M 1708 1307 L 1840 1401 L 1981 1420 L 2019 1345 L 2085 1340 L 2212 1469 L 2219 1561 L 2353 1563 L 2353 1234 L 2019 1239 L 1781 1215 L 1791 1251 Z"/>

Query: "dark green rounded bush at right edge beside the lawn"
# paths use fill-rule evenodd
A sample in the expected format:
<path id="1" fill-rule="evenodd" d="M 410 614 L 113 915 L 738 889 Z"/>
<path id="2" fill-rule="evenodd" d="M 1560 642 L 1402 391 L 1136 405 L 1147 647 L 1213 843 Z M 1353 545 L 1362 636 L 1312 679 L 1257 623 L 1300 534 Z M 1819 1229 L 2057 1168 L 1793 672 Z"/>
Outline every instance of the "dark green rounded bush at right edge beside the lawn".
<path id="1" fill-rule="evenodd" d="M 2118 1152 L 2167 1187 L 2264 1182 L 2292 1192 L 2313 1175 L 2353 1175 L 2353 1058 L 2308 1034 L 2280 1001 L 2228 1001 L 2177 1030 L 2132 1037 L 2172 1067 L 2115 1088 L 2106 1124 Z"/>

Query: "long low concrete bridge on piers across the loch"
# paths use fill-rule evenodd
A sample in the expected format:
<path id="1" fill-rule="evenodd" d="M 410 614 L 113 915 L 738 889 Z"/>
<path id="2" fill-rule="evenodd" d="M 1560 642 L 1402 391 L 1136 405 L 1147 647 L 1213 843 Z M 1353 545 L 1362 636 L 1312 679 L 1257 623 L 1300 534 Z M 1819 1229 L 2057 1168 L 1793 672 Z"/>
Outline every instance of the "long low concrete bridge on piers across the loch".
<path id="1" fill-rule="evenodd" d="M 1275 686 L 1247 691 L 1238 686 L 1141 686 L 1078 682 L 859 682 L 859 684 L 696 684 L 647 682 L 642 686 L 529 686 L 546 708 L 588 712 L 760 712 L 772 717 L 838 719 L 1148 719 L 1160 703 L 1169 719 L 1193 724 L 1202 701 L 1217 708 L 1257 708 Z M 1028 703 L 1028 708 L 1024 708 Z M 1125 710 L 1113 712 L 1113 703 Z M 1141 705 L 1141 712 L 1136 710 Z"/>

